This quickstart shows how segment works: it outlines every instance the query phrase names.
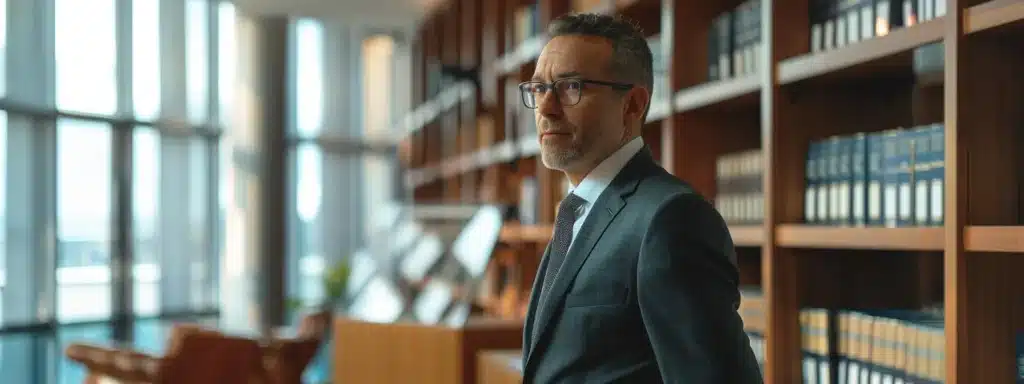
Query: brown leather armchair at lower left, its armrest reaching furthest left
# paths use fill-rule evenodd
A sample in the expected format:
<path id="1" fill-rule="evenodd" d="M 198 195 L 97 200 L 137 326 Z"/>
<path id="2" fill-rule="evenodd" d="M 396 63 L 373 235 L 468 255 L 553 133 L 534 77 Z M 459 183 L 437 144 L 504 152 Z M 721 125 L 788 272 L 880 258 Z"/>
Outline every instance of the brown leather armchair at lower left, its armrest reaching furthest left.
<path id="1" fill-rule="evenodd" d="M 87 384 L 99 382 L 258 384 L 264 382 L 259 344 L 193 325 L 175 326 L 167 351 L 151 355 L 116 346 L 74 343 L 66 349 L 85 366 Z M 102 379 L 102 380 L 101 380 Z"/>

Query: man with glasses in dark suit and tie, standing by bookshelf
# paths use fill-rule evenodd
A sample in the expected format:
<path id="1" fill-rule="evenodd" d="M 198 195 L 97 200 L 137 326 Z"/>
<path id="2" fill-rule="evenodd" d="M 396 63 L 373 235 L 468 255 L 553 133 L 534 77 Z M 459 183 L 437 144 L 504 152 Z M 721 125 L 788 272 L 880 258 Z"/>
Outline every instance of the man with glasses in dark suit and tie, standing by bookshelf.
<path id="1" fill-rule="evenodd" d="M 640 136 L 652 89 L 643 34 L 578 14 L 548 36 L 519 89 L 544 165 L 572 188 L 534 283 L 524 381 L 761 383 L 728 228 Z"/>

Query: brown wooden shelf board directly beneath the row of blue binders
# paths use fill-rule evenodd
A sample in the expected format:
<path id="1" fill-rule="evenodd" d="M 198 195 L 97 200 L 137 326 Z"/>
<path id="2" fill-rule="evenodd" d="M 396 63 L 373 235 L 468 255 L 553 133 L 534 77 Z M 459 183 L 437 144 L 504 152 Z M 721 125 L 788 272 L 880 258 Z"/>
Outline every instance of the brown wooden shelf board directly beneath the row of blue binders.
<path id="1" fill-rule="evenodd" d="M 776 243 L 787 248 L 866 249 L 892 251 L 941 251 L 941 227 L 834 227 L 782 224 Z"/>

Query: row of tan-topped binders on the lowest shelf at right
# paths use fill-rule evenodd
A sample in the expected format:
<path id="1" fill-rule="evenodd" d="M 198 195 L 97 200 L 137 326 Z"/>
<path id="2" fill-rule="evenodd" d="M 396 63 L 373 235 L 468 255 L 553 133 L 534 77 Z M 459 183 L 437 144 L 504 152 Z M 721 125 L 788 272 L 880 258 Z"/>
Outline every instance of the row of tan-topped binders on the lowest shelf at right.
<path id="1" fill-rule="evenodd" d="M 804 384 L 945 381 L 941 309 L 800 312 Z"/>

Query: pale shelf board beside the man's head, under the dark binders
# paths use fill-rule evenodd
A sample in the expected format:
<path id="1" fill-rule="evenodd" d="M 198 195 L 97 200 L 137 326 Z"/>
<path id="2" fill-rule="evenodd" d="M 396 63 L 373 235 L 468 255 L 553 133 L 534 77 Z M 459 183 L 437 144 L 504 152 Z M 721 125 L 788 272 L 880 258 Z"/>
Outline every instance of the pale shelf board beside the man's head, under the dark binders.
<path id="1" fill-rule="evenodd" d="M 676 92 L 673 106 L 676 113 L 685 113 L 716 104 L 757 105 L 757 92 L 761 77 L 748 75 L 692 86 Z"/>

